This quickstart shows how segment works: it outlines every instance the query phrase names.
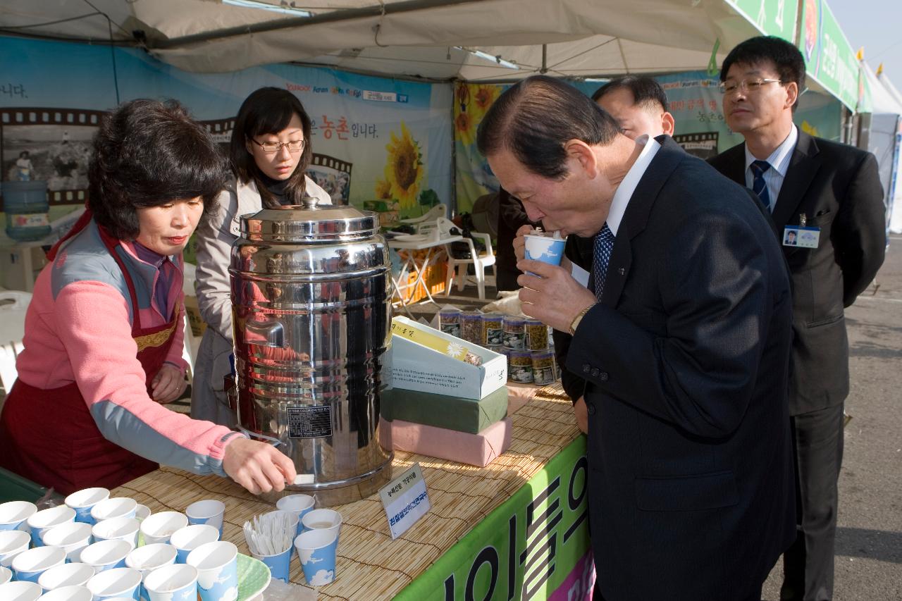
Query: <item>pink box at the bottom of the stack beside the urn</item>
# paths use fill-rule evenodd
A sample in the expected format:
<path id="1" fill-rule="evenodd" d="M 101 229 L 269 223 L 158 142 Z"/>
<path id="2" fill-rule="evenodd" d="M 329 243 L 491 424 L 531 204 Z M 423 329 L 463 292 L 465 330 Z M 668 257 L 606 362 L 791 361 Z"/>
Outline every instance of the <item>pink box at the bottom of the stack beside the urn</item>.
<path id="1" fill-rule="evenodd" d="M 379 419 L 379 439 L 384 448 L 449 459 L 485 467 L 511 447 L 511 418 L 506 417 L 479 434 L 436 428 L 410 421 Z"/>

